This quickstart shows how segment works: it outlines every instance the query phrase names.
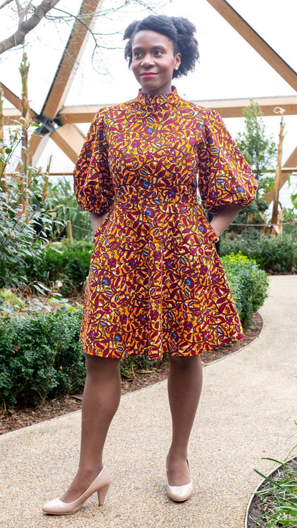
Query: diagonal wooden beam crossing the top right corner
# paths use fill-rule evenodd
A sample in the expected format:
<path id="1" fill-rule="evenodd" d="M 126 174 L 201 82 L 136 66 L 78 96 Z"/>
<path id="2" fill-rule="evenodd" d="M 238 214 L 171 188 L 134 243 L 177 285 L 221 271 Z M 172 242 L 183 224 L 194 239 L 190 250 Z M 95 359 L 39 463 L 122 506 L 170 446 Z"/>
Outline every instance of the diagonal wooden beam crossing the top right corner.
<path id="1" fill-rule="evenodd" d="M 256 49 L 263 59 L 275 69 L 279 75 L 297 91 L 297 73 L 291 68 L 274 49 L 262 39 L 258 33 L 231 7 L 226 0 L 207 0 L 221 16 L 243 36 L 253 49 Z"/>

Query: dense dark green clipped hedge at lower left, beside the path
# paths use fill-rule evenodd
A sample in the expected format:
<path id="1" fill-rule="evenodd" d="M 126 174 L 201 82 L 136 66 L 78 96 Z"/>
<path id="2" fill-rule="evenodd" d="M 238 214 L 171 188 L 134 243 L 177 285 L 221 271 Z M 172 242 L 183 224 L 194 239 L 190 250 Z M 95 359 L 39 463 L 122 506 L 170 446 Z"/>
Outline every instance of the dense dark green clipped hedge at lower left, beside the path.
<path id="1" fill-rule="evenodd" d="M 81 309 L 1 321 L 2 407 L 41 403 L 46 396 L 71 394 L 84 386 L 80 326 Z"/>

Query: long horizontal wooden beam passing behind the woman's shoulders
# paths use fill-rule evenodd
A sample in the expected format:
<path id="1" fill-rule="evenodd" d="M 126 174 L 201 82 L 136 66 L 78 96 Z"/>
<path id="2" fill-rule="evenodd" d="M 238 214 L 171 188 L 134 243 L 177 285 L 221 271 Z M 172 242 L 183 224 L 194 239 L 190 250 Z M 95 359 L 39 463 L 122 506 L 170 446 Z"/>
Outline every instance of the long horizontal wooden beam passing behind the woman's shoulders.
<path id="1" fill-rule="evenodd" d="M 286 115 L 297 114 L 297 96 L 280 97 L 256 97 L 253 99 L 258 103 L 264 116 L 275 116 L 273 109 L 281 106 L 286 110 Z M 206 101 L 191 101 L 199 106 L 205 106 L 218 111 L 224 117 L 242 117 L 243 108 L 250 106 L 250 99 L 213 99 Z M 85 104 L 82 106 L 65 106 L 59 113 L 62 123 L 90 123 L 96 112 L 102 106 L 112 106 L 112 104 Z"/>

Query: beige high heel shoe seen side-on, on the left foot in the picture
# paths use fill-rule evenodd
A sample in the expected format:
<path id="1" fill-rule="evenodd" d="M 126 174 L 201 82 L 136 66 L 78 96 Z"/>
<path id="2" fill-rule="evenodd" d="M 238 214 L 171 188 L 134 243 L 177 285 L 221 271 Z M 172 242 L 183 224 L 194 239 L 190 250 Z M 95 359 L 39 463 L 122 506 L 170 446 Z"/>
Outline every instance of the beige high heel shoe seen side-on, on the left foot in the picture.
<path id="1" fill-rule="evenodd" d="M 69 515 L 71 513 L 78 512 L 82 507 L 86 499 L 89 499 L 91 495 L 97 492 L 99 506 L 104 503 L 106 493 L 109 490 L 109 484 L 111 483 L 111 477 L 106 467 L 103 467 L 98 477 L 91 483 L 88 489 L 73 502 L 63 502 L 61 499 L 56 498 L 49 502 L 46 502 L 42 507 L 44 513 L 52 515 Z"/>

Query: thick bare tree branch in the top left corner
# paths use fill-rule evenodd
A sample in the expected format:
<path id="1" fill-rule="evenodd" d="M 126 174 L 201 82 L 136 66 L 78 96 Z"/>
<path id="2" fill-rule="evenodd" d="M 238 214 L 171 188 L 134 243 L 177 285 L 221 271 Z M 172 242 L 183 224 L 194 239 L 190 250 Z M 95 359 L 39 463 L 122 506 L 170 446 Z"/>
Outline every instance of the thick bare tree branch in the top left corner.
<path id="1" fill-rule="evenodd" d="M 39 4 L 39 6 L 34 9 L 34 14 L 30 19 L 21 22 L 14 34 L 9 36 L 8 39 L 0 42 L 0 54 L 4 53 L 4 51 L 7 51 L 8 49 L 14 48 L 15 46 L 19 46 L 19 44 L 24 44 L 26 34 L 34 29 L 34 27 L 39 24 L 44 15 L 53 9 L 53 7 L 56 6 L 59 1 L 60 0 L 43 0 L 41 4 Z"/>

